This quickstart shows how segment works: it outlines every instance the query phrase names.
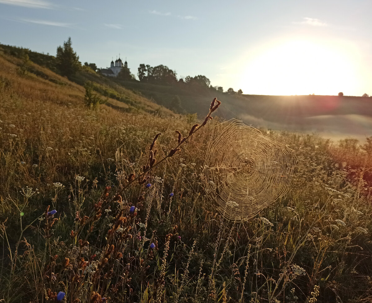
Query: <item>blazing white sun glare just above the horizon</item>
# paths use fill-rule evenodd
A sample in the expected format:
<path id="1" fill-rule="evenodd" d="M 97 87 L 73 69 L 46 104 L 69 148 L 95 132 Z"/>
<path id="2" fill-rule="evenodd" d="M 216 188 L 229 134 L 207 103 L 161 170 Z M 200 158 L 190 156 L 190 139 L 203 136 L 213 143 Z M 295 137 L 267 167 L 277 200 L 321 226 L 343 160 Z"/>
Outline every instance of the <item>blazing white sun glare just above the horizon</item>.
<path id="1" fill-rule="evenodd" d="M 335 95 L 358 86 L 354 56 L 350 47 L 311 40 L 268 44 L 247 57 L 239 82 L 252 94 Z"/>

